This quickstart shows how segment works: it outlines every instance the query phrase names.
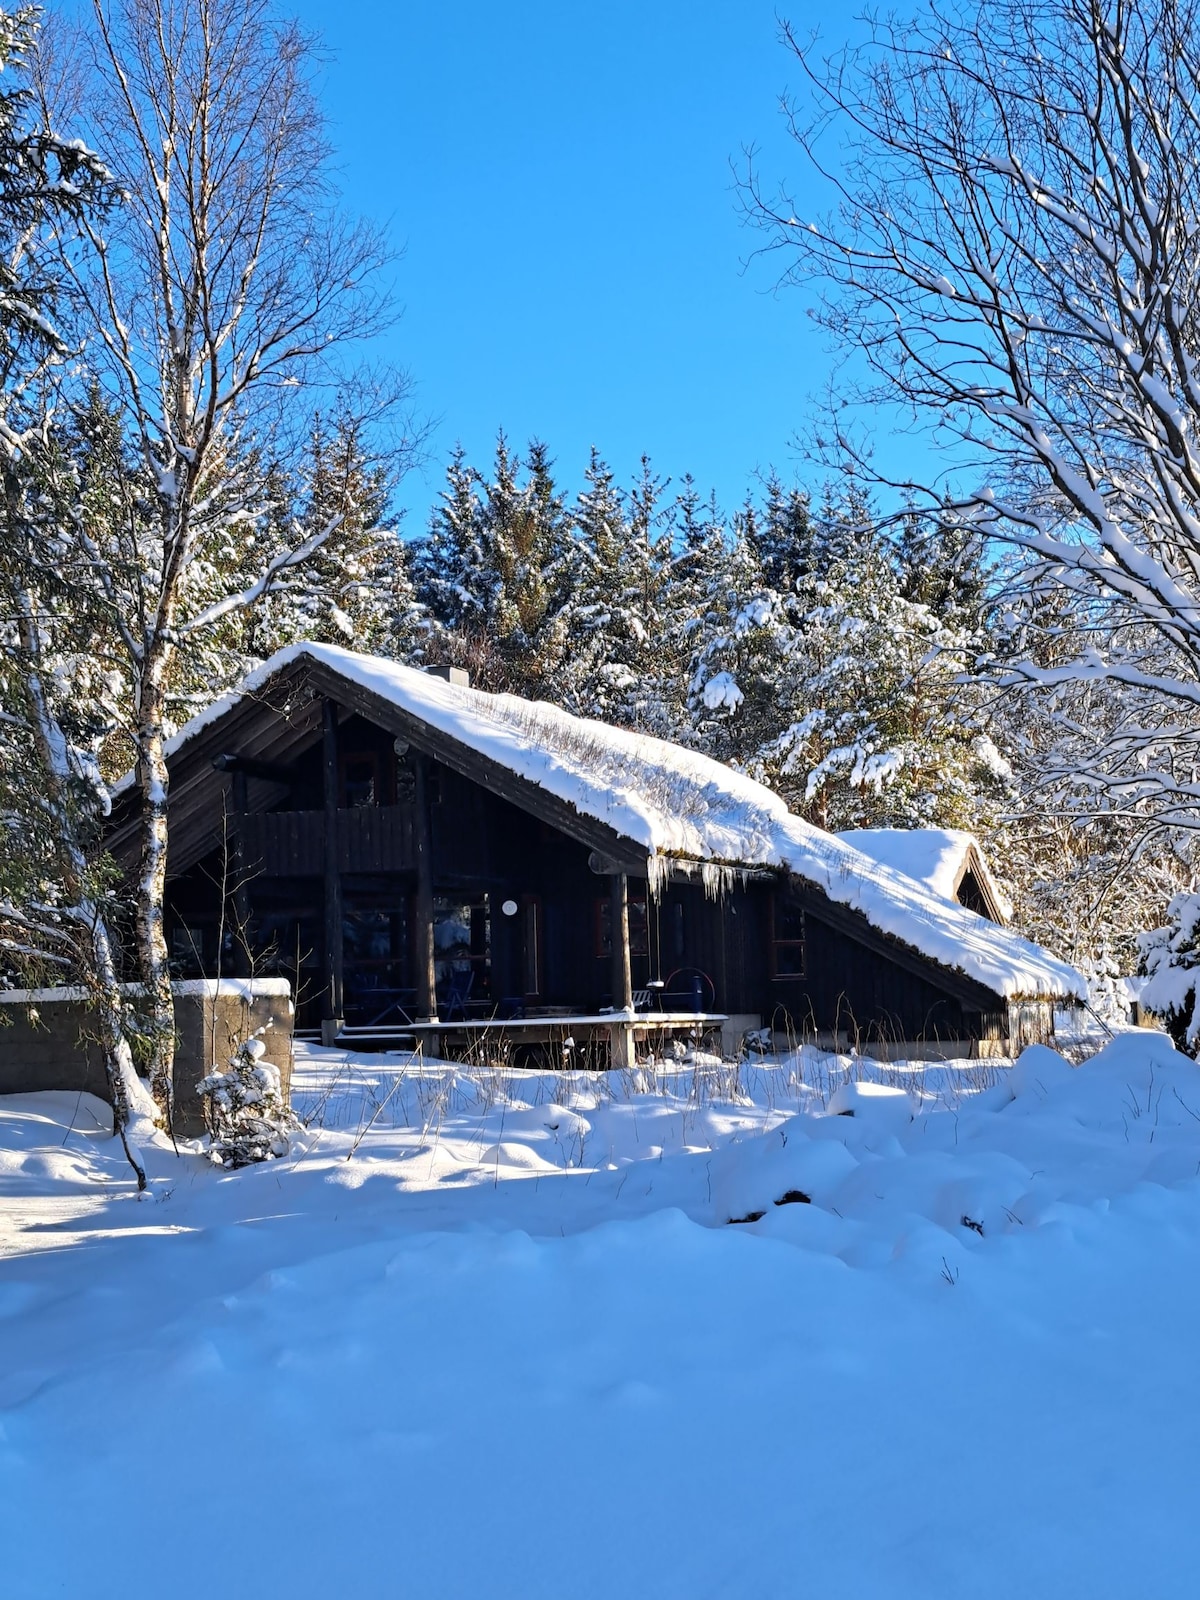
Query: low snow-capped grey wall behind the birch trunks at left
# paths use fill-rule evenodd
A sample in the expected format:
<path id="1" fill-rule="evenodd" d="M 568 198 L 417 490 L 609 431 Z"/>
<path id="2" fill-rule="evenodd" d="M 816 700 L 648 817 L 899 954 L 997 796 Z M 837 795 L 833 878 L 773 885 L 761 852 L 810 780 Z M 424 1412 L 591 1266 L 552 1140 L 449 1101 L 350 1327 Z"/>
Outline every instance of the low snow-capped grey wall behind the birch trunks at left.
<path id="1" fill-rule="evenodd" d="M 174 986 L 174 1131 L 205 1131 L 195 1085 L 258 1034 L 291 1093 L 293 1005 L 286 979 L 222 979 Z M 0 989 L 0 1094 L 67 1090 L 109 1098 L 94 1019 L 75 989 Z"/>

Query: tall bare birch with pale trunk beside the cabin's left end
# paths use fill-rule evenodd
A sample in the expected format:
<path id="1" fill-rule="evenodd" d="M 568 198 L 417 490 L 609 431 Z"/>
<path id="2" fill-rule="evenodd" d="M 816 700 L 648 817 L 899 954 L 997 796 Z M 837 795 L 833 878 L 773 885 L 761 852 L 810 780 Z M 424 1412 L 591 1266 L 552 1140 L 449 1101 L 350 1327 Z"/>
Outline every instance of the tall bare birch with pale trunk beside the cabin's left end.
<path id="1" fill-rule="evenodd" d="M 238 563 L 237 579 L 213 590 L 219 566 L 205 550 L 251 549 L 269 498 L 262 462 L 302 448 L 314 395 L 336 387 L 346 349 L 389 320 L 387 251 L 338 211 L 314 40 L 266 0 L 94 0 L 82 48 L 66 66 L 46 56 L 43 93 L 51 112 L 77 107 L 123 194 L 102 227 L 85 222 L 90 248 L 64 261 L 90 368 L 138 466 L 125 502 L 82 536 L 128 678 L 142 827 L 136 941 L 150 1080 L 170 1107 L 173 674 L 206 630 L 270 595 L 338 526 L 341 514 L 262 541 L 274 554 L 250 574 Z M 392 398 L 402 395 L 395 381 Z"/>

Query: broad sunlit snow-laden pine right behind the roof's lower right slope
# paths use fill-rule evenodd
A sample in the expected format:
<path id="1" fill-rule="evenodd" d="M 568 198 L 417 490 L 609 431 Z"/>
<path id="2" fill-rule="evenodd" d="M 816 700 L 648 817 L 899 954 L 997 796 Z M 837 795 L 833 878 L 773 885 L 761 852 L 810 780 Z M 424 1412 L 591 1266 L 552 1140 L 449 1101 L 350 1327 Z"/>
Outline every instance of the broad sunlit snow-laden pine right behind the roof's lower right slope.
<path id="1" fill-rule="evenodd" d="M 1008 776 L 960 682 L 973 632 L 906 597 L 858 493 L 826 494 L 814 523 L 790 590 L 734 541 L 744 589 L 706 622 L 698 736 L 824 827 L 979 829 Z"/>

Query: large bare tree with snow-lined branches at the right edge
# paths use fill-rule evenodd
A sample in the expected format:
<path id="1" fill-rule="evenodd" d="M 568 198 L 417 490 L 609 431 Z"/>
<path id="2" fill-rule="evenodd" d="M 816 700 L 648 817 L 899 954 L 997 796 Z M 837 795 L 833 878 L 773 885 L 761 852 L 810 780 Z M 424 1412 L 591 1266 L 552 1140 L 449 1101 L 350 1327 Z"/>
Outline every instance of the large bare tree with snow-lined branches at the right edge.
<path id="1" fill-rule="evenodd" d="M 834 206 L 752 166 L 749 211 L 856 352 L 853 398 L 928 424 L 960 509 L 1022 555 L 1003 678 L 1043 696 L 1043 803 L 1195 829 L 1197 0 L 934 0 L 861 48 L 786 40 Z M 1058 659 L 1029 603 L 1051 589 Z"/>

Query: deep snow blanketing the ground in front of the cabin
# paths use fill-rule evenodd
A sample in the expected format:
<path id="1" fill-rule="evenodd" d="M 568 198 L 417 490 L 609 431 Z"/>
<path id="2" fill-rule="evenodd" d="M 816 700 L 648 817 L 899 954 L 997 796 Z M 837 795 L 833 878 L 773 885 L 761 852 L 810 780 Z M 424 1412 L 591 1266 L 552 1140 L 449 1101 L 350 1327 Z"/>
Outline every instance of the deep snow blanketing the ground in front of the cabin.
<path id="1" fill-rule="evenodd" d="M 862 1070 L 0 1099 L 0 1594 L 1190 1597 L 1200 1069 Z"/>

